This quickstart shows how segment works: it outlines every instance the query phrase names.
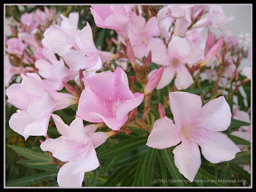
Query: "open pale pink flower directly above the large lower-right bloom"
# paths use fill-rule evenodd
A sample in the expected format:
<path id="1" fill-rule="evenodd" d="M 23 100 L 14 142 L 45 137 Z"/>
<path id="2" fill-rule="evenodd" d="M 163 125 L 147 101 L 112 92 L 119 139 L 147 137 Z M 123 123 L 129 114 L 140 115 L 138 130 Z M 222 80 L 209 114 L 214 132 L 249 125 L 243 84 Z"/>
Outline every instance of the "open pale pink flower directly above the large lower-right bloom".
<path id="1" fill-rule="evenodd" d="M 190 72 L 186 69 L 185 63 L 192 66 L 198 62 L 203 58 L 204 50 L 198 49 L 186 38 L 177 36 L 170 41 L 168 50 L 161 39 L 150 43 L 149 50 L 152 51 L 152 61 L 165 66 L 162 78 L 157 86 L 158 90 L 167 86 L 174 78 L 174 74 L 177 74 L 174 83 L 178 90 L 186 89 L 194 82 Z"/>

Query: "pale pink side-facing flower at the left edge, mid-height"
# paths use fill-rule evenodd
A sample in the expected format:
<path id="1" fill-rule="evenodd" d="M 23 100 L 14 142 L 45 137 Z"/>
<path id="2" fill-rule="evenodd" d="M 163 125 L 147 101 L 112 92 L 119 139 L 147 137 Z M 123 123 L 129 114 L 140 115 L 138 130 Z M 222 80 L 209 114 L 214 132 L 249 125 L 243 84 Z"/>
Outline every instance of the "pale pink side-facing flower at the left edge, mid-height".
<path id="1" fill-rule="evenodd" d="M 6 95 L 7 102 L 20 109 L 10 117 L 10 128 L 25 139 L 46 136 L 50 114 L 74 104 L 74 96 L 58 93 L 34 73 L 22 74 L 22 82 L 9 86 Z"/>

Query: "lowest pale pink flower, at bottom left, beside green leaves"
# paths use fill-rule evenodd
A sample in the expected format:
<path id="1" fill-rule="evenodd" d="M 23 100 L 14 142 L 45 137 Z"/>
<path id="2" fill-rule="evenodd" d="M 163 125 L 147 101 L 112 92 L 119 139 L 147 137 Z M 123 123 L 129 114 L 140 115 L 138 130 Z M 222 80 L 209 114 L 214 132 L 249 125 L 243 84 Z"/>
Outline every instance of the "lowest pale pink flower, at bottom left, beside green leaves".
<path id="1" fill-rule="evenodd" d="M 113 134 L 95 132 L 97 126 L 83 126 L 81 118 L 75 118 L 68 126 L 57 114 L 51 116 L 62 136 L 47 138 L 40 147 L 43 151 L 50 151 L 54 158 L 66 162 L 58 171 L 58 186 L 81 187 L 85 172 L 99 166 L 95 148 Z"/>

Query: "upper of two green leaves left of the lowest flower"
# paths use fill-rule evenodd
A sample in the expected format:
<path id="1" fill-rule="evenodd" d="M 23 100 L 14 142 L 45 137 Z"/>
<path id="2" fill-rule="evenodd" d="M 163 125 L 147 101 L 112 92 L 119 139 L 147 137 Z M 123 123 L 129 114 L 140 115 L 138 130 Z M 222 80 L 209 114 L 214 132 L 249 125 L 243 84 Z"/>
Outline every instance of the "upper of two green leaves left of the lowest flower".
<path id="1" fill-rule="evenodd" d="M 38 153 L 34 152 L 33 150 L 30 150 L 26 147 L 21 146 L 10 146 L 8 145 L 12 150 L 14 150 L 17 154 L 22 155 L 23 158 L 28 158 L 30 160 L 34 161 L 40 161 L 40 162 L 51 162 L 52 159 L 50 158 L 50 154 L 47 154 L 46 152 Z"/>

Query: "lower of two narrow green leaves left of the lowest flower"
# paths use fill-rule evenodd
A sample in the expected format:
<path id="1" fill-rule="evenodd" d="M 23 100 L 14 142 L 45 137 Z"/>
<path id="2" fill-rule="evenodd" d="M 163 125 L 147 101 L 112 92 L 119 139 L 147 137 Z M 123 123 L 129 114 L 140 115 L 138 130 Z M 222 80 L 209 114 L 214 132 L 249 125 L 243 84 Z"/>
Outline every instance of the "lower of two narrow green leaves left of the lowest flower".
<path id="1" fill-rule="evenodd" d="M 38 162 L 34 160 L 23 160 L 19 161 L 18 163 L 22 164 L 23 166 L 28 166 L 37 170 L 53 170 L 58 171 L 58 167 L 50 162 Z"/>

